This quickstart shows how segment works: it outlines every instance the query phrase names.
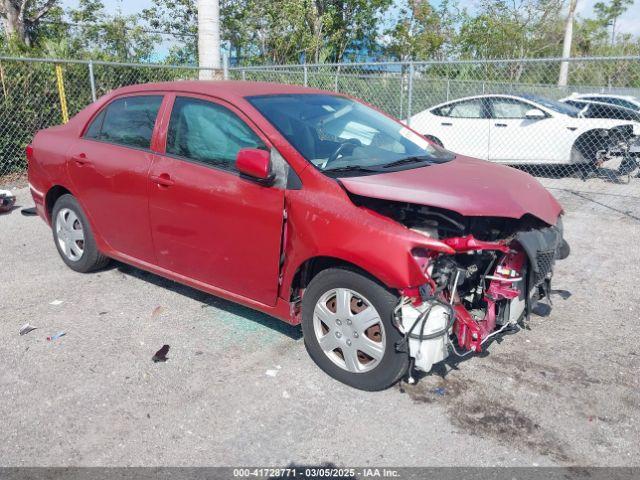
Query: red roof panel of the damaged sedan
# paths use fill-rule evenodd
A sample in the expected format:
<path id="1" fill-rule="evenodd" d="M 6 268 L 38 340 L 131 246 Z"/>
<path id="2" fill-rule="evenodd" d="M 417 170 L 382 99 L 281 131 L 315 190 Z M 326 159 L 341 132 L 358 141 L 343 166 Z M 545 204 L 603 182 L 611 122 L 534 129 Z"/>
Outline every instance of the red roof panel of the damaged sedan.
<path id="1" fill-rule="evenodd" d="M 285 95 L 285 94 L 331 94 L 315 88 L 301 87 L 298 85 L 285 85 L 282 83 L 248 82 L 234 80 L 181 80 L 175 82 L 143 83 L 130 85 L 113 90 L 113 96 L 127 93 L 165 91 L 195 93 L 210 95 L 224 100 L 237 100 L 259 95 Z"/>

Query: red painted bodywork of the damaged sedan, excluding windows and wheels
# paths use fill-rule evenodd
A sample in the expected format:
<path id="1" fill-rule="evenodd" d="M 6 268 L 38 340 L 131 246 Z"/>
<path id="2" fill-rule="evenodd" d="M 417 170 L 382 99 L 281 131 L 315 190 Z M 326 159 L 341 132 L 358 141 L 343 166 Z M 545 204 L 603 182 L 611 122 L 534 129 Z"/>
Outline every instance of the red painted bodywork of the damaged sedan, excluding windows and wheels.
<path id="1" fill-rule="evenodd" d="M 151 93 L 165 96 L 151 149 L 82 139 L 90 120 L 114 98 Z M 166 155 L 178 93 L 232 109 L 267 147 L 277 149 L 302 187 L 265 187 L 237 173 Z M 253 82 L 172 82 L 116 90 L 67 125 L 34 138 L 29 182 L 38 212 L 50 221 L 46 195 L 54 186 L 66 188 L 85 210 L 106 255 L 292 323 L 299 318 L 289 303 L 291 285 L 310 259 L 340 259 L 389 288 L 409 290 L 428 281 L 413 249 L 451 254 L 460 242 L 472 247 L 469 239 L 448 245 L 354 205 L 338 181 L 311 167 L 244 98 L 286 93 L 327 92 Z M 530 213 L 555 224 L 561 211 L 532 177 L 466 158 L 341 182 L 360 195 L 463 215 L 519 218 Z"/>

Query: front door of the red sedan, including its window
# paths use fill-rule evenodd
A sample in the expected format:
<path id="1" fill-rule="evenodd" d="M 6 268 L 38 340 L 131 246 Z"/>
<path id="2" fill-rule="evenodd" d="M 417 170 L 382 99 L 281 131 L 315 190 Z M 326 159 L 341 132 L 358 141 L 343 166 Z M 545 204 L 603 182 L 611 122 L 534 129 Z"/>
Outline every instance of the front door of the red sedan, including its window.
<path id="1" fill-rule="evenodd" d="M 149 177 L 159 265 L 275 305 L 284 190 L 242 178 L 235 167 L 240 149 L 268 148 L 266 138 L 239 110 L 209 97 L 176 96 L 167 120 L 166 148 Z"/>

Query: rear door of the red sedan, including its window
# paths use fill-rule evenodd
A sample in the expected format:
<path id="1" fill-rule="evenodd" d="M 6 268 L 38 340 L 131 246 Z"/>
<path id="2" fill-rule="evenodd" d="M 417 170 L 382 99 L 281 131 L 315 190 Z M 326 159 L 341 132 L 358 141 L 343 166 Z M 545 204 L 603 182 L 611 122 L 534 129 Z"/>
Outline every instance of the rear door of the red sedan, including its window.
<path id="1" fill-rule="evenodd" d="M 155 263 L 148 210 L 151 140 L 162 94 L 112 100 L 69 151 L 74 194 L 116 251 Z"/>

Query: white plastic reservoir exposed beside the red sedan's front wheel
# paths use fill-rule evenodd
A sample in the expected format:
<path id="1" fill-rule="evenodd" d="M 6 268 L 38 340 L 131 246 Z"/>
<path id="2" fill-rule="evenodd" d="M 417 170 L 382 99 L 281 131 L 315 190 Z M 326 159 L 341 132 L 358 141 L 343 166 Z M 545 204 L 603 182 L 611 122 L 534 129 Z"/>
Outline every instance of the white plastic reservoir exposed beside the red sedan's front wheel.
<path id="1" fill-rule="evenodd" d="M 403 305 L 402 312 L 402 327 L 405 332 L 413 326 L 418 317 L 424 313 L 430 304 L 423 303 L 416 307 L 413 305 Z M 422 330 L 422 321 L 413 329 L 412 334 L 429 335 L 446 328 L 449 323 L 449 311 L 442 305 L 434 304 L 429 312 L 424 330 Z M 428 372 L 434 363 L 441 362 L 449 355 L 447 348 L 448 332 L 440 337 L 432 338 L 429 340 L 419 340 L 409 337 L 409 356 L 415 359 L 415 368 L 423 372 Z"/>

